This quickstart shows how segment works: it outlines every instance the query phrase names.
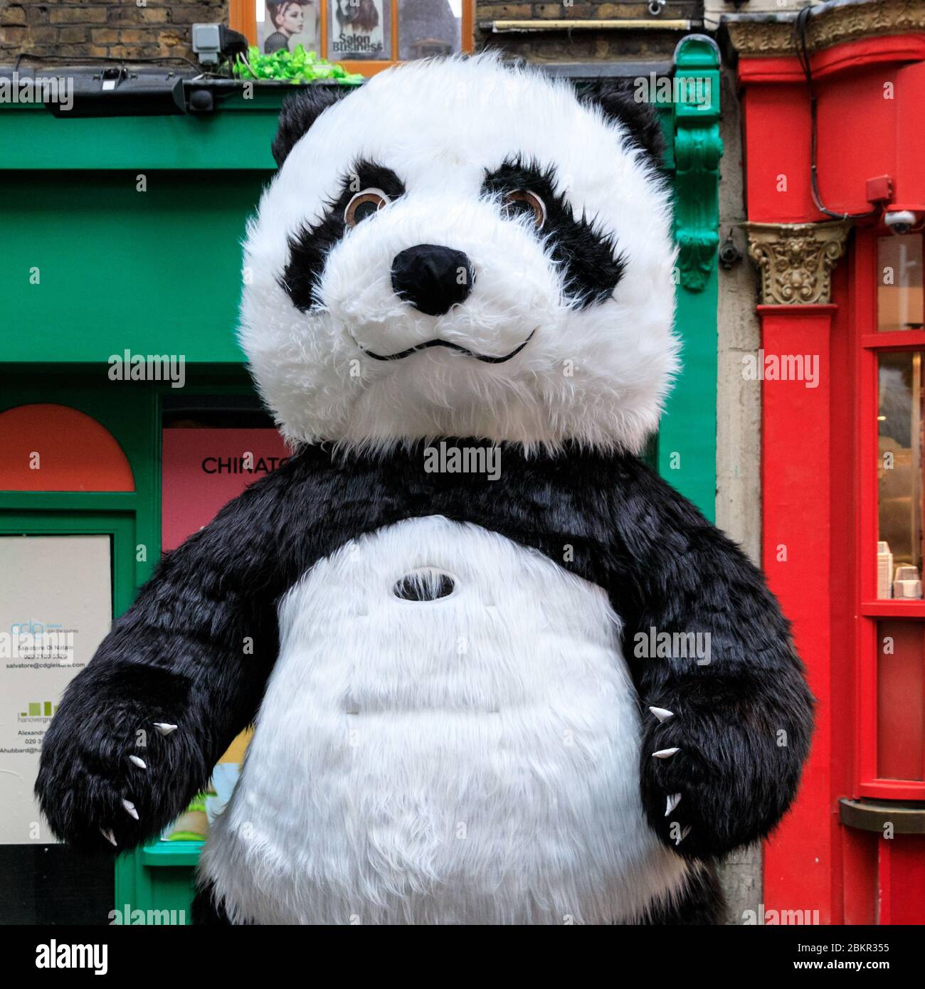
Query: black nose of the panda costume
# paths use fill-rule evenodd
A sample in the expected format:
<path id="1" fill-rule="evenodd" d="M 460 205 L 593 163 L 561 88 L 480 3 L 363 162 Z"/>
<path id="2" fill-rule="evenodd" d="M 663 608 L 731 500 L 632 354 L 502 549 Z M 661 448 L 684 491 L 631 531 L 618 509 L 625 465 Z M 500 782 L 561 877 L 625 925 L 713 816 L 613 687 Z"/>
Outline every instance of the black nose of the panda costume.
<path id="1" fill-rule="evenodd" d="M 465 302 L 474 281 L 472 262 L 452 247 L 416 244 L 392 260 L 395 294 L 427 315 L 443 315 Z"/>

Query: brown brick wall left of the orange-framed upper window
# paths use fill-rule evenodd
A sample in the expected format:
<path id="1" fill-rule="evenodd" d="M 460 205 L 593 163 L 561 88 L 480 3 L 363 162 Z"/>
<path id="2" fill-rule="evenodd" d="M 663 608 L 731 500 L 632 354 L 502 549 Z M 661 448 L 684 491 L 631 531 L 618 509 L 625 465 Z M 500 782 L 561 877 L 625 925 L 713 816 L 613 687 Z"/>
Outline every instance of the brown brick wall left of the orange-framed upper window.
<path id="1" fill-rule="evenodd" d="M 0 62 L 21 51 L 66 55 L 190 55 L 190 26 L 228 24 L 228 0 L 0 0 Z"/>

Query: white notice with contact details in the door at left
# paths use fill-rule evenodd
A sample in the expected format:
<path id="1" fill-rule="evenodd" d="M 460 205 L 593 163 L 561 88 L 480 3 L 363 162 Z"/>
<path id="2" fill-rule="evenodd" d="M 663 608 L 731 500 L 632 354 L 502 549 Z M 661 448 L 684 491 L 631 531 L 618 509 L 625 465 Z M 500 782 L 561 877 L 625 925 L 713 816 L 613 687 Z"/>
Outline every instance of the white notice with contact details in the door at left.
<path id="1" fill-rule="evenodd" d="M 53 844 L 33 795 L 64 687 L 112 622 L 110 537 L 0 536 L 0 845 Z"/>

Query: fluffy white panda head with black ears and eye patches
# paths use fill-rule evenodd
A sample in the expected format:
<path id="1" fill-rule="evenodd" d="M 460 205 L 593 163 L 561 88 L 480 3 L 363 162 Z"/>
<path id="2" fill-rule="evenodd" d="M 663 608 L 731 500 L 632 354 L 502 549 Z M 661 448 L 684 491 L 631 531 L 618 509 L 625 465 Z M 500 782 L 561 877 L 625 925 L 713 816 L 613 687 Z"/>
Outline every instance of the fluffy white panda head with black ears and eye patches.
<path id="1" fill-rule="evenodd" d="M 242 347 L 293 445 L 638 452 L 677 370 L 658 125 L 494 55 L 283 109 Z"/>

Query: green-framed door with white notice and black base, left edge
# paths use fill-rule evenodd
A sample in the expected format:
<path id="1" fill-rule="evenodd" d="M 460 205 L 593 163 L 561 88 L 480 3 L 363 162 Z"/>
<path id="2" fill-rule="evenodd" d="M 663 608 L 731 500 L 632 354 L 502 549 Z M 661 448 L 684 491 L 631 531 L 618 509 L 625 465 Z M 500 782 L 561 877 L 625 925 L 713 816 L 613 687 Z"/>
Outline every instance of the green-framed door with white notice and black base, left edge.
<path id="1" fill-rule="evenodd" d="M 28 407 L 28 406 L 27 406 Z M 2 448 L 2 447 L 0 447 Z M 75 503 L 74 495 L 56 498 Z M 133 584 L 134 524 L 61 509 L 0 512 L 0 923 L 105 924 L 112 858 L 59 844 L 34 793 L 61 696 L 109 630 L 118 583 Z M 124 598 L 123 598 L 124 599 Z"/>

